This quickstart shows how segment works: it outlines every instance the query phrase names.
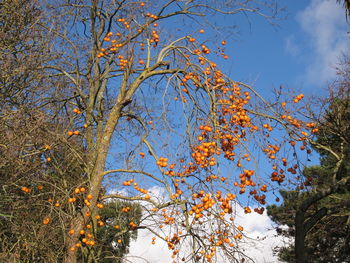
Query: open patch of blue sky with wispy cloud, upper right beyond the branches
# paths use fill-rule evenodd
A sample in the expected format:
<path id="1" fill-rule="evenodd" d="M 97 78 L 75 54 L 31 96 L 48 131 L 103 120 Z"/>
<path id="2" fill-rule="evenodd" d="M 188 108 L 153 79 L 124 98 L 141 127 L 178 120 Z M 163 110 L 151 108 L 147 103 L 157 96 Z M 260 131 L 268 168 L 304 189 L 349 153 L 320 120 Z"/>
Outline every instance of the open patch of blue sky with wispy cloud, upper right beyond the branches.
<path id="1" fill-rule="evenodd" d="M 345 12 L 335 0 L 279 3 L 286 10 L 277 26 L 257 16 L 249 16 L 249 23 L 239 19 L 240 34 L 228 44 L 231 76 L 255 83 L 263 93 L 284 85 L 320 94 L 334 78 L 342 52 L 350 51 Z"/>

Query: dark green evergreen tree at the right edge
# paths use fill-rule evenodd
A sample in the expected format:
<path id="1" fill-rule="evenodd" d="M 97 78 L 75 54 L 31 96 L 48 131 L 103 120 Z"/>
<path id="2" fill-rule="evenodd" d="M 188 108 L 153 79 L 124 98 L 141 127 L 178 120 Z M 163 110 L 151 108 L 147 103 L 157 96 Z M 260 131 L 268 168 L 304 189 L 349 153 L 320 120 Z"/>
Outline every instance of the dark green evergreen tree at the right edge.
<path id="1" fill-rule="evenodd" d="M 277 248 L 283 262 L 349 262 L 350 255 L 350 97 L 349 64 L 312 143 L 320 165 L 304 169 L 306 190 L 280 191 L 284 203 L 267 208 L 278 233 L 295 237 L 295 244 Z M 299 218 L 298 218 L 299 216 Z M 298 222 L 298 219 L 302 218 Z M 301 223 L 300 223 L 301 222 Z M 299 223 L 299 225 L 298 225 Z M 287 225 L 287 229 L 283 228 Z M 297 238 L 297 231 L 301 238 Z M 304 255 L 295 246 L 302 240 Z M 300 243 L 299 243 L 300 245 Z M 299 256 L 299 258 L 298 258 Z"/>

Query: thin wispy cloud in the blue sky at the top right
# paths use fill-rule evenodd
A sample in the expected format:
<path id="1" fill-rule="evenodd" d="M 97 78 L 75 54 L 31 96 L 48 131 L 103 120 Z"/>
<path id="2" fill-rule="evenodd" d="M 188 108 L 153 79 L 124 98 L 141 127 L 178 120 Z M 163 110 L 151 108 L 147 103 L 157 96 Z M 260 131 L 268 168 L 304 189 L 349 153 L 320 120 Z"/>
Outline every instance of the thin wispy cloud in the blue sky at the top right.
<path id="1" fill-rule="evenodd" d="M 342 54 L 350 52 L 349 26 L 344 12 L 336 1 L 312 0 L 297 14 L 306 39 L 299 41 L 296 47 L 296 37 L 291 35 L 286 39 L 286 49 L 292 55 L 303 51 L 300 55 L 307 60 L 304 79 L 308 83 L 322 85 L 334 78 Z"/>

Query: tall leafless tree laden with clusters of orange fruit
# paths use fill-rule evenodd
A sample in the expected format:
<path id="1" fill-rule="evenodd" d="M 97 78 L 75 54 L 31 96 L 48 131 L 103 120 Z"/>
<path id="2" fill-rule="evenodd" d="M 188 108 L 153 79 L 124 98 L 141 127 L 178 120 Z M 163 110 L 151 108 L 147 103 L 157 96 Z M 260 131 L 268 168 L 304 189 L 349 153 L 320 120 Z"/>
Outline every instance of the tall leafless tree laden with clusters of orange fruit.
<path id="1" fill-rule="evenodd" d="M 94 247 L 106 224 L 99 209 L 108 200 L 140 204 L 140 222 L 130 221 L 124 231 L 149 231 L 153 242 L 167 242 L 174 259 L 252 261 L 238 246 L 244 228 L 235 222 L 236 207 L 263 213 L 265 192 L 299 169 L 284 170 L 298 160 L 296 154 L 287 160 L 283 145 L 296 151 L 300 143 L 303 151 L 316 129 L 297 118 L 303 94 L 284 102 L 276 92 L 267 101 L 225 75 L 226 39 L 207 41 L 216 25 L 202 17 L 270 20 L 276 4 L 75 0 L 47 1 L 42 9 L 39 25 L 55 56 L 41 69 L 57 89 L 36 98 L 53 119 L 66 120 L 66 140 L 79 138 L 84 146 L 86 186 L 67 187 L 75 201 L 60 205 L 71 217 L 65 262 L 87 251 L 87 262 L 100 262 Z M 268 180 L 257 149 L 271 162 Z M 115 246 L 120 242 L 116 237 Z"/>

